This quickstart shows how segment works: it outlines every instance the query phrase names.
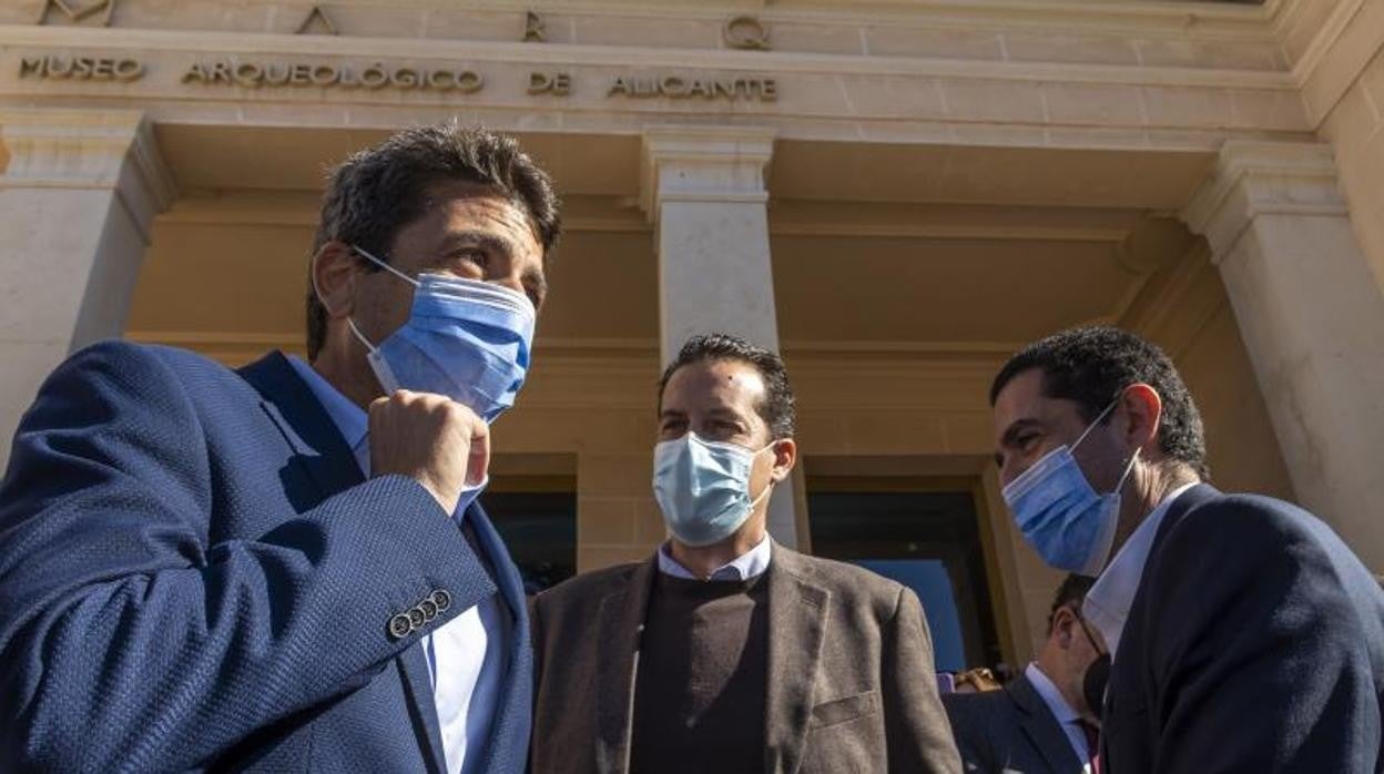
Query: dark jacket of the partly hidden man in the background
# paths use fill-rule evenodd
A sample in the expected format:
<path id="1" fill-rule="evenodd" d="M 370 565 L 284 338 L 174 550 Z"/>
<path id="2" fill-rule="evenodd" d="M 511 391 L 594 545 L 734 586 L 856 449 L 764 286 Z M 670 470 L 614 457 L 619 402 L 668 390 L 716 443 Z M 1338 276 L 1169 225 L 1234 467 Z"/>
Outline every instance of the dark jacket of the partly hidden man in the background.
<path id="1" fill-rule="evenodd" d="M 1024 674 L 1001 691 L 944 694 L 943 706 L 966 771 L 1080 774 L 1086 764 Z"/>

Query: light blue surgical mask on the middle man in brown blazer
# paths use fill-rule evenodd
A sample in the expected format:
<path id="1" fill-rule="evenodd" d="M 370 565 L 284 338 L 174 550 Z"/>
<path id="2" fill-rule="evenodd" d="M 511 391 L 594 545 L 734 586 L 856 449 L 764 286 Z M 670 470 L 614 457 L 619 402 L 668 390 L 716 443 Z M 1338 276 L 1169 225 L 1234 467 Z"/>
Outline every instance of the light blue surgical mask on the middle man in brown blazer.
<path id="1" fill-rule="evenodd" d="M 684 546 L 720 543 L 750 518 L 774 483 L 750 497 L 750 469 L 765 450 L 752 451 L 734 443 L 707 442 L 686 433 L 653 447 L 653 497 L 663 522 Z"/>

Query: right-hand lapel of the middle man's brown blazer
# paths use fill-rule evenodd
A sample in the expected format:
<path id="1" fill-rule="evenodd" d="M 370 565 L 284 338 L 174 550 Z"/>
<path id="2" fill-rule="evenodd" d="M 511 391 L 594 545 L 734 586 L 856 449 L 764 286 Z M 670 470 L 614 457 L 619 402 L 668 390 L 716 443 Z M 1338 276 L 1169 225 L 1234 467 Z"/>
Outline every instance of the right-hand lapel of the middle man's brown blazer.
<path id="1" fill-rule="evenodd" d="M 764 702 L 765 771 L 797 771 L 812 717 L 830 593 L 803 577 L 797 554 L 774 544 L 768 582 L 770 654 Z"/>

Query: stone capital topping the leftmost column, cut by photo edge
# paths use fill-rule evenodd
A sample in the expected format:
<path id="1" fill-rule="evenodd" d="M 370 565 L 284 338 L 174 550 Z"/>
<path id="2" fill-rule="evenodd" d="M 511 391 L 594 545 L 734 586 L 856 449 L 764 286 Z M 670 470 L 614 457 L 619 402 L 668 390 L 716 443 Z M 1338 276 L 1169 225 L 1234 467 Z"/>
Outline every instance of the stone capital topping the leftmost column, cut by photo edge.
<path id="1" fill-rule="evenodd" d="M 0 188 L 113 190 L 144 231 L 177 197 L 173 174 L 141 111 L 0 109 L 10 163 Z"/>

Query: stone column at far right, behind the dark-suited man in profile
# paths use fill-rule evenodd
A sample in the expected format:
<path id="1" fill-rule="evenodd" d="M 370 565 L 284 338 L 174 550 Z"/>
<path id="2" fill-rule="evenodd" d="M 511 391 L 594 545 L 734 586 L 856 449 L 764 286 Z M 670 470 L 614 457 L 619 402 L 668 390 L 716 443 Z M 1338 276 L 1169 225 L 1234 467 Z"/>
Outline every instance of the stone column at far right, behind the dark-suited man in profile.
<path id="1" fill-rule="evenodd" d="M 1211 245 L 1293 489 L 1384 570 L 1384 295 L 1330 148 L 1226 143 L 1183 217 Z"/>

